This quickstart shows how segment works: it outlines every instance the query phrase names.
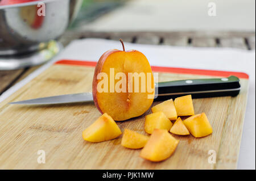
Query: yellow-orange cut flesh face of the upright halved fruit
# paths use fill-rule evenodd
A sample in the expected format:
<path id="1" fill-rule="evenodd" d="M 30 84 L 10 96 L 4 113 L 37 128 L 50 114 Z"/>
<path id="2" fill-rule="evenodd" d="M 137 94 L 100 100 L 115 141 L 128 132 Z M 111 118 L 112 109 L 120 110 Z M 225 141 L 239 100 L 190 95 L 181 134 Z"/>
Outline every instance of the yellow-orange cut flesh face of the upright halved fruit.
<path id="1" fill-rule="evenodd" d="M 110 69 L 114 69 L 114 77 L 117 76 L 117 73 L 124 73 L 126 79 L 119 77 L 119 79 L 115 79 L 110 85 L 110 82 L 112 82 L 110 79 L 113 79 L 110 75 Z M 95 93 L 101 112 L 108 113 L 116 121 L 122 121 L 132 117 L 141 116 L 148 110 L 148 108 L 150 108 L 154 100 L 154 77 L 147 58 L 141 52 L 119 51 L 112 53 L 106 58 L 101 72 L 108 75 L 108 92 Z M 135 79 L 129 79 L 129 73 L 143 73 L 146 76 L 146 81 L 142 83 L 140 79 L 139 85 L 137 85 L 139 86 L 139 92 L 135 92 Z M 151 74 L 151 82 L 147 81 L 147 73 Z M 125 92 L 116 91 L 115 86 L 117 86 L 119 81 L 120 83 L 123 82 L 123 85 L 125 85 Z M 151 85 L 149 85 L 148 82 L 150 82 Z M 146 85 L 144 85 L 145 83 Z M 142 84 L 146 87 L 146 92 L 141 90 Z M 150 92 L 150 90 L 147 89 L 147 86 L 151 86 L 153 92 Z M 110 87 L 113 87 L 114 90 L 110 90 Z M 122 84 L 117 87 L 122 88 Z M 153 95 L 153 98 L 151 99 L 148 98 L 148 95 L 150 94 Z"/>

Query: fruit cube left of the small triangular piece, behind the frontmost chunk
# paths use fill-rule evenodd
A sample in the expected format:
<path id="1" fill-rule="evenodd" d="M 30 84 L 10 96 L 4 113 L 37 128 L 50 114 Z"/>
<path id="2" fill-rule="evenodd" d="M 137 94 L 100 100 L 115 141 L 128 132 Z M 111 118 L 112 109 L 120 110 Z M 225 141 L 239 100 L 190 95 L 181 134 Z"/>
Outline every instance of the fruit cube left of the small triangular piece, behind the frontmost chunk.
<path id="1" fill-rule="evenodd" d="M 163 112 L 155 112 L 145 117 L 145 131 L 151 134 L 154 129 L 166 129 L 169 131 L 172 127 L 172 122 Z"/>

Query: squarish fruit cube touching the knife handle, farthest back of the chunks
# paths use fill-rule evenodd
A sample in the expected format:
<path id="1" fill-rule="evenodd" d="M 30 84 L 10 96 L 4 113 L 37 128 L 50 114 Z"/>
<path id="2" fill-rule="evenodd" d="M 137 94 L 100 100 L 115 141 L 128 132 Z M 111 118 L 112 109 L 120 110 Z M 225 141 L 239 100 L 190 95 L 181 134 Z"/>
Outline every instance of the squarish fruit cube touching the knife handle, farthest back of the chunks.
<path id="1" fill-rule="evenodd" d="M 192 116 L 195 115 L 192 96 L 185 95 L 174 100 L 174 105 L 178 116 Z"/>

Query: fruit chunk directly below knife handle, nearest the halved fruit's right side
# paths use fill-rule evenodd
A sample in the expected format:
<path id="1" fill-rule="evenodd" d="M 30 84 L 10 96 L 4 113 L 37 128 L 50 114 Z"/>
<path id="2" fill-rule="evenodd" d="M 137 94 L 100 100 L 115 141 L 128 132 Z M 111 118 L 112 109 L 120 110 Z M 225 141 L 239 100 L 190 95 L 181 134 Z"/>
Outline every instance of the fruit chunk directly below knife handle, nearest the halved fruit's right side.
<path id="1" fill-rule="evenodd" d="M 174 106 L 174 101 L 172 99 L 166 100 L 152 107 L 151 110 L 153 113 L 162 111 L 170 120 L 177 119 L 177 112 Z"/>

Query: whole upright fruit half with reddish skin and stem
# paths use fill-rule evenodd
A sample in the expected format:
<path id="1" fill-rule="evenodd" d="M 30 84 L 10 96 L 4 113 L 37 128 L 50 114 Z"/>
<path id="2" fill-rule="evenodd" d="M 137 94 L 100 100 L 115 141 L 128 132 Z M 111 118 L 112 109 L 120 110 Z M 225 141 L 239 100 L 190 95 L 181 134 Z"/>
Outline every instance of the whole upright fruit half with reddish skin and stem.
<path id="1" fill-rule="evenodd" d="M 107 75 L 105 85 L 104 77 L 97 79 L 102 74 Z M 106 91 L 97 90 L 102 85 Z M 94 103 L 101 113 L 108 113 L 116 121 L 141 116 L 154 100 L 151 66 L 137 50 L 109 50 L 97 62 L 92 89 Z"/>

